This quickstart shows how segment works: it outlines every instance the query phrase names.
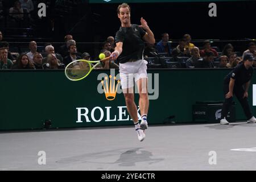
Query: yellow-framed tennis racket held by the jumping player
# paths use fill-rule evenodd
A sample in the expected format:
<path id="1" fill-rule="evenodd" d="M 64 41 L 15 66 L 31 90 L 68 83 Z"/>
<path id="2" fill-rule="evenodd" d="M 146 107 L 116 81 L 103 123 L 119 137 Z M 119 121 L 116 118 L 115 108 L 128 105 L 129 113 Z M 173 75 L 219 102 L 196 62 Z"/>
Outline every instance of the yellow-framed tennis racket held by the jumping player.
<path id="1" fill-rule="evenodd" d="M 79 59 L 72 61 L 65 68 L 65 75 L 71 81 L 79 81 L 84 79 L 90 74 L 90 72 L 100 64 L 101 61 L 107 61 L 110 57 L 106 57 L 98 61 L 88 61 L 84 59 Z M 91 63 L 96 63 L 93 67 Z"/>

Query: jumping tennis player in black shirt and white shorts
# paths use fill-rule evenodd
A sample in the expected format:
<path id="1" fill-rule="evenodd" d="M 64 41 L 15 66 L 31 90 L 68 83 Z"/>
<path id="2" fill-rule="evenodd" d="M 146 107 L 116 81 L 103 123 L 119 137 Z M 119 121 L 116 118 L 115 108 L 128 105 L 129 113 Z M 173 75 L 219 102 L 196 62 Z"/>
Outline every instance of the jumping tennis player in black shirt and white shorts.
<path id="1" fill-rule="evenodd" d="M 131 24 L 130 6 L 122 3 L 117 8 L 117 15 L 121 27 L 115 34 L 115 51 L 110 59 L 119 61 L 121 86 L 125 96 L 127 110 L 133 119 L 139 141 L 145 138 L 144 130 L 147 129 L 148 94 L 147 94 L 147 61 L 143 60 L 144 41 L 154 44 L 153 32 L 148 27 L 146 20 L 141 18 L 141 26 Z M 144 30 L 143 30 L 144 29 Z M 141 110 L 141 125 L 138 121 L 137 106 L 134 102 L 134 80 L 139 91 L 139 109 Z"/>

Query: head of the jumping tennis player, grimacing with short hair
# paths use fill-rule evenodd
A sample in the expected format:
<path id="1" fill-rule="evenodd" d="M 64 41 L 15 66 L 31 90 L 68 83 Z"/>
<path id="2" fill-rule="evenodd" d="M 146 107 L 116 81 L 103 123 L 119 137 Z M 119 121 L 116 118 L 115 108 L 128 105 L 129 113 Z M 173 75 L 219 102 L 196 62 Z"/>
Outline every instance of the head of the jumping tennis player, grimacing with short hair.
<path id="1" fill-rule="evenodd" d="M 129 25 L 131 23 L 130 13 L 131 13 L 131 9 L 130 9 L 130 6 L 127 5 L 127 3 L 122 3 L 122 5 L 118 6 L 117 15 L 122 23 L 122 26 Z"/>

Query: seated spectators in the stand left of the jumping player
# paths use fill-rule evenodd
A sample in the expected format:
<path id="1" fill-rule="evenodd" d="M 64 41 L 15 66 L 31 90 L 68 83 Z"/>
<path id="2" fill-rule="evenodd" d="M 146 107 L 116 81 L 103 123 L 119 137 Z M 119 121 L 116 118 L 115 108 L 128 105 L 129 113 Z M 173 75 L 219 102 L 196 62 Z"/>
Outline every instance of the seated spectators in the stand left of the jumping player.
<path id="1" fill-rule="evenodd" d="M 28 44 L 29 51 L 27 52 L 10 52 L 9 43 L 2 41 L 3 34 L 0 31 L 0 69 L 64 69 L 69 63 L 78 59 L 90 60 L 90 53 L 77 51 L 76 41 L 72 35 L 66 35 L 65 44 L 57 48 L 51 43 L 44 47 L 43 52 L 38 51 L 38 46 L 35 41 Z M 99 53 L 104 53 L 105 56 L 110 56 L 114 50 L 114 38 L 110 36 L 102 46 Z M 106 61 L 96 67 L 96 69 L 118 69 L 118 64 L 114 61 Z"/>

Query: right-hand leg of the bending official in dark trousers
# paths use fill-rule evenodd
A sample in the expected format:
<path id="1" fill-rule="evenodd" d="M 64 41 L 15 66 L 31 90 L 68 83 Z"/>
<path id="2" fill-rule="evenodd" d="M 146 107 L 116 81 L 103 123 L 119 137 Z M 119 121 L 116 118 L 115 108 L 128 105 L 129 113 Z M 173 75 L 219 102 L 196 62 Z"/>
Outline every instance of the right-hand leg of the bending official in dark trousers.
<path id="1" fill-rule="evenodd" d="M 247 97 L 243 98 L 243 94 L 245 93 L 245 90 L 241 87 L 237 88 L 236 96 L 237 100 L 240 102 L 243 112 L 246 115 L 247 122 L 254 123 L 256 119 L 253 117 L 253 114 L 251 114 L 251 109 L 247 100 Z"/>

